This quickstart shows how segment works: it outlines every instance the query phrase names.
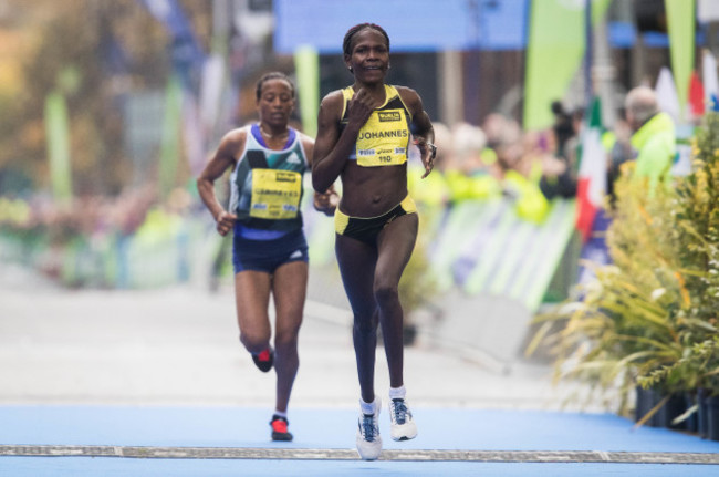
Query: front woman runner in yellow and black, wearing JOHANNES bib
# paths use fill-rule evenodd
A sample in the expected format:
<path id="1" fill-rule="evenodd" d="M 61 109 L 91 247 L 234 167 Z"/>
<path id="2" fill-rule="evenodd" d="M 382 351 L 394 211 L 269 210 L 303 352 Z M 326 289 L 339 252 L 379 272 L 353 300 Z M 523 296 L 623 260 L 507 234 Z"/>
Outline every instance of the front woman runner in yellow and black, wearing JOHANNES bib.
<path id="1" fill-rule="evenodd" d="M 324 191 L 337 177 L 342 179 L 335 252 L 354 314 L 362 409 L 357 450 L 364 459 L 376 459 L 382 450 L 381 406 L 374 388 L 377 325 L 389 366 L 392 437 L 405 440 L 417 435 L 405 401 L 403 310 L 397 289 L 418 225 L 407 193 L 408 147 L 410 141 L 419 147 L 426 177 L 434 165 L 434 132 L 414 90 L 385 84 L 389 38 L 381 27 L 351 28 L 343 50 L 355 81 L 322 100 L 312 182 L 315 190 Z"/>

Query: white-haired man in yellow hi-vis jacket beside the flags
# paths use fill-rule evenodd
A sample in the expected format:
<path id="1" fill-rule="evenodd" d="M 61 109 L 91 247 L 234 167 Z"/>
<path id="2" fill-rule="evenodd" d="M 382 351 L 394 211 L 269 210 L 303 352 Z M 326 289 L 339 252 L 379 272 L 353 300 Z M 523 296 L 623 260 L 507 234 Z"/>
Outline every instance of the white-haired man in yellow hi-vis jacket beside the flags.
<path id="1" fill-rule="evenodd" d="M 636 149 L 634 176 L 649 182 L 649 190 L 659 183 L 669 185 L 671 164 L 676 156 L 676 135 L 671 117 L 659 111 L 657 95 L 650 87 L 638 86 L 625 100 L 626 120 L 634 132 Z"/>

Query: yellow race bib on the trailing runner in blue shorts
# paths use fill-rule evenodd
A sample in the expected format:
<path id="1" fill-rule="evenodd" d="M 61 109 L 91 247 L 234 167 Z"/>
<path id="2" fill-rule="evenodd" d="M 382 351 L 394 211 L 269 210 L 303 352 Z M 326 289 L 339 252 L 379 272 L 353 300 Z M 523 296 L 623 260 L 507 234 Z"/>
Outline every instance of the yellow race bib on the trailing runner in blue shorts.
<path id="1" fill-rule="evenodd" d="M 300 208 L 302 175 L 293 170 L 252 169 L 250 217 L 293 219 Z"/>

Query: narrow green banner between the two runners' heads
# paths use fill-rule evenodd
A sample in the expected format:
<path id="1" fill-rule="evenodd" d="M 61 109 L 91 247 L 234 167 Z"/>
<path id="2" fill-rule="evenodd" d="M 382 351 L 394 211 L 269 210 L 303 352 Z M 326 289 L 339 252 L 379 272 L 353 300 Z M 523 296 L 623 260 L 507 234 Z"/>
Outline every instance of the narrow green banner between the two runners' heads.
<path id="1" fill-rule="evenodd" d="M 298 73 L 300 115 L 304 134 L 317 134 L 317 112 L 320 107 L 320 55 L 310 45 L 298 48 L 294 52 L 294 69 Z"/>

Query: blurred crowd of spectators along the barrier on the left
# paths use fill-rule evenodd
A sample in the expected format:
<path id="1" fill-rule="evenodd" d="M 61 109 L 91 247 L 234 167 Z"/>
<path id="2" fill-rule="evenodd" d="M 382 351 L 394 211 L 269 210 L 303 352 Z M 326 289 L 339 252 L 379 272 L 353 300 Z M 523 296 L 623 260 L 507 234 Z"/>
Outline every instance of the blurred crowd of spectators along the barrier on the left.
<path id="1" fill-rule="evenodd" d="M 67 204 L 48 194 L 0 197 L 0 253 L 52 278 L 67 279 L 69 260 L 75 259 L 71 256 L 96 256 L 101 250 L 121 248 L 143 230 L 157 231 L 181 220 L 194 207 L 186 189 L 177 188 L 161 200 L 152 186 L 131 188 L 117 197 L 79 196 Z M 97 265 L 98 270 L 92 273 L 104 273 L 100 270 L 103 267 Z M 80 278 L 71 277 L 70 281 L 75 279 Z"/>

